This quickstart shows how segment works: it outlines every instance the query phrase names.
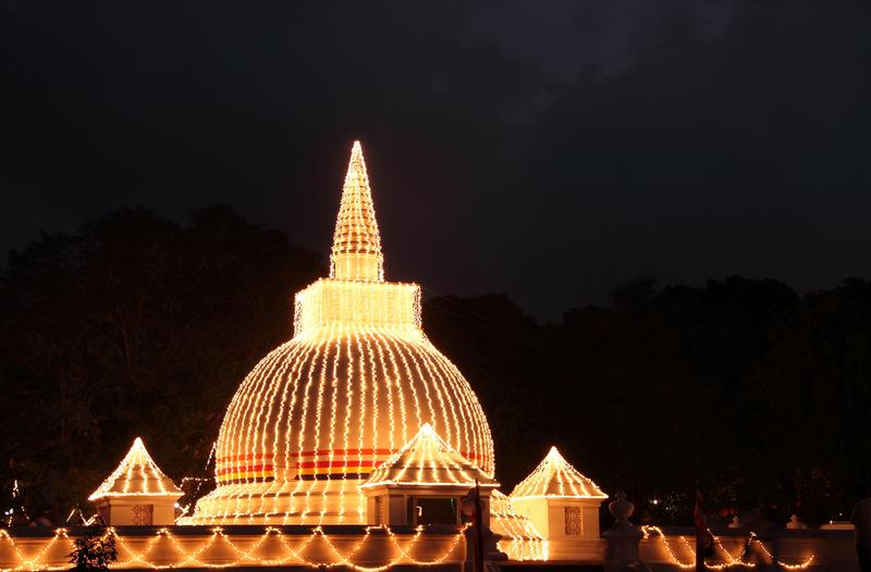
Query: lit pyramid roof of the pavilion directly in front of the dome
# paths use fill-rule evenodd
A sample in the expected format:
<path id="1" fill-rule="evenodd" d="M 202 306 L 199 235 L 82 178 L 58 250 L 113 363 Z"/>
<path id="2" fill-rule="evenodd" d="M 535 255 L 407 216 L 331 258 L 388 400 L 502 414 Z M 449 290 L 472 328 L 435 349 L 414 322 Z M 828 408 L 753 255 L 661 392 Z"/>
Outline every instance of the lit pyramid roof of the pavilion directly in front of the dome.
<path id="1" fill-rule="evenodd" d="M 429 423 L 412 440 L 384 460 L 360 485 L 499 486 L 492 476 L 463 457 Z"/>

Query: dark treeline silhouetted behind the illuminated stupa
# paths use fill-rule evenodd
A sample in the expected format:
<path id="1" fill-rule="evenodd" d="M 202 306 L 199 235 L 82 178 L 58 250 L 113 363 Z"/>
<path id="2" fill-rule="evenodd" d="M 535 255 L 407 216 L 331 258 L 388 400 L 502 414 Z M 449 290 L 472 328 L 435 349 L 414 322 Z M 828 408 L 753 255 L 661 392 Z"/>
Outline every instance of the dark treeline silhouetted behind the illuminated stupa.
<path id="1" fill-rule="evenodd" d="M 225 207 L 143 210 L 13 253 L 0 282 L 0 508 L 62 521 L 142 435 L 176 481 L 207 476 L 244 375 L 292 331 L 326 261 Z M 478 393 L 505 492 L 555 444 L 638 515 L 837 520 L 871 476 L 871 283 L 640 281 L 541 325 L 501 295 L 429 299 L 428 336 Z M 657 500 L 653 503 L 653 500 Z"/>

